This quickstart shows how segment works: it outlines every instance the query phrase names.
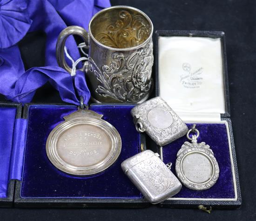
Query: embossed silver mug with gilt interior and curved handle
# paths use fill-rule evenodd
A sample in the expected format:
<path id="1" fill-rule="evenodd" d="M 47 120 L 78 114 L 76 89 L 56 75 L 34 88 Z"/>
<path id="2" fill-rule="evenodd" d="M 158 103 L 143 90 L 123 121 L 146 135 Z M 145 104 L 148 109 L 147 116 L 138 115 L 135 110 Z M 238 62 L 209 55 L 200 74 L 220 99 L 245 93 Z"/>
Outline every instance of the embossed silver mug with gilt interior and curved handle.
<path id="1" fill-rule="evenodd" d="M 79 26 L 64 29 L 56 45 L 58 64 L 71 72 L 64 58 L 69 35 L 79 35 L 88 45 L 88 87 L 94 102 L 141 103 L 152 90 L 153 24 L 134 7 L 115 6 L 96 13 L 88 32 Z"/>

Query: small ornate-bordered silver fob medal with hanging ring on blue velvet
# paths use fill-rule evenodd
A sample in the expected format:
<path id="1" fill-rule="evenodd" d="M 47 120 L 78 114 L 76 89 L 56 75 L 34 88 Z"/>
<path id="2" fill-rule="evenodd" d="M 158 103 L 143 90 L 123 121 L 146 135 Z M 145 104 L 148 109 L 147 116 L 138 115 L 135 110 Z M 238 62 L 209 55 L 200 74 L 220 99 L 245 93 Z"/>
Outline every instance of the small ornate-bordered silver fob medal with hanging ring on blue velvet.
<path id="1" fill-rule="evenodd" d="M 189 136 L 194 130 L 196 135 Z M 194 190 L 205 190 L 211 188 L 219 177 L 219 165 L 214 157 L 210 146 L 197 143 L 199 131 L 190 129 L 187 138 L 191 143 L 185 142 L 177 153 L 176 174 L 184 186 Z"/>

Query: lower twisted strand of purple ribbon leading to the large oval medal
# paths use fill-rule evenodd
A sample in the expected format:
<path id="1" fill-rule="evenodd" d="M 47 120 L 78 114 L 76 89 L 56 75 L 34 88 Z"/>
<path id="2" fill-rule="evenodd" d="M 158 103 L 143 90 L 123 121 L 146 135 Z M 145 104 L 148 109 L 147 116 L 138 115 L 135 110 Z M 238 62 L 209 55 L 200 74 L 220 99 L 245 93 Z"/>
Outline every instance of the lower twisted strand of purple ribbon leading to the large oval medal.
<path id="1" fill-rule="evenodd" d="M 71 104 L 79 104 L 74 91 L 75 86 L 78 94 L 84 98 L 84 103 L 88 103 L 90 98 L 88 94 L 90 92 L 85 82 L 84 73 L 82 71 L 76 71 L 73 85 L 70 74 L 57 66 L 30 68 L 15 82 L 14 90 L 10 94 L 6 94 L 6 97 L 18 103 L 27 103 L 27 100 L 33 98 L 36 89 L 44 85 L 48 80 L 60 92 L 63 101 Z"/>

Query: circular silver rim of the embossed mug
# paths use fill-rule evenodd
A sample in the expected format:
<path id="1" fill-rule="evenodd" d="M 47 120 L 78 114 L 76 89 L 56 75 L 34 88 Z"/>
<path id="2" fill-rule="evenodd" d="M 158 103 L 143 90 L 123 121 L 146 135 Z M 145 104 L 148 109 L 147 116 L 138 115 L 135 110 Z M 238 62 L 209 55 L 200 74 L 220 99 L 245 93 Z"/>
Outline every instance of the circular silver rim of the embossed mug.
<path id="1" fill-rule="evenodd" d="M 133 46 L 133 47 L 127 47 L 127 48 L 115 48 L 115 47 L 110 47 L 110 46 L 107 46 L 107 45 L 104 45 L 102 44 L 101 42 L 99 42 L 98 40 L 96 40 L 91 32 L 91 23 L 92 21 L 101 13 L 103 12 L 106 12 L 110 9 L 113 9 L 113 8 L 128 8 L 128 9 L 132 9 L 132 10 L 135 10 L 139 13 L 141 13 L 149 22 L 150 26 L 152 27 L 151 28 L 151 32 L 150 34 L 148 35 L 148 38 L 143 41 L 140 45 L 136 45 L 136 46 Z M 137 48 L 140 48 L 141 46 L 145 45 L 151 38 L 152 38 L 152 35 L 153 35 L 153 29 L 154 29 L 154 26 L 153 26 L 153 23 L 152 21 L 150 20 L 150 18 L 148 17 L 148 15 L 144 12 L 142 12 L 140 9 L 138 8 L 135 8 L 135 7 L 131 7 L 131 6 L 112 6 L 112 7 L 108 7 L 108 8 L 104 8 L 102 9 L 101 11 L 97 12 L 96 14 L 94 14 L 94 16 L 91 18 L 90 22 L 89 22 L 89 25 L 88 25 L 88 31 L 89 31 L 89 35 L 90 35 L 90 38 L 94 40 L 95 43 L 97 43 L 98 45 L 100 45 L 101 47 L 104 47 L 104 48 L 107 48 L 109 50 L 114 50 L 114 51 L 131 51 L 131 50 L 135 50 Z M 89 39 L 90 40 L 90 39 Z"/>

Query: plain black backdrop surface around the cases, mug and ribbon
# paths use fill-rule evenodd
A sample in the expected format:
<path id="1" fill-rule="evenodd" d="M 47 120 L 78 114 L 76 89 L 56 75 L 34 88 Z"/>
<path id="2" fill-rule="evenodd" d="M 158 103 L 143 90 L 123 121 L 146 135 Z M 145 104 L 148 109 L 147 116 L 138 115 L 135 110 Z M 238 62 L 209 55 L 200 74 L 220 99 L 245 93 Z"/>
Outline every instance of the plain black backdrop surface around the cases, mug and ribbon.
<path id="1" fill-rule="evenodd" d="M 231 120 L 242 192 L 242 207 L 196 209 L 19 209 L 1 208 L 5 220 L 256 220 L 256 1 L 254 0 L 111 0 L 111 4 L 141 9 L 155 30 L 212 30 L 226 34 Z M 45 36 L 27 34 L 20 42 L 26 68 L 44 65 Z M 5 101 L 0 97 L 0 101 Z M 61 102 L 56 91 L 45 85 L 33 102 Z"/>

